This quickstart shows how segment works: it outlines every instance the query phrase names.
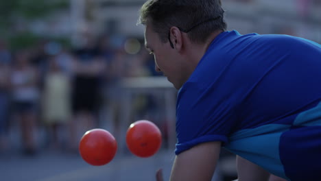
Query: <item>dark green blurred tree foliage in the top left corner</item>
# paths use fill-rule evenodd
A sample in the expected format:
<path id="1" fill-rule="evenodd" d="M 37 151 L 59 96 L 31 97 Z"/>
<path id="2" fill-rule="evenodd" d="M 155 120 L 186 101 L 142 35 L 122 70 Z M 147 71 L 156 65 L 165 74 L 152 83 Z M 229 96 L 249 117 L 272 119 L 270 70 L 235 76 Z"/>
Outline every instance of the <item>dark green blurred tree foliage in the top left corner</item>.
<path id="1" fill-rule="evenodd" d="M 8 40 L 12 47 L 31 45 L 43 37 L 28 31 L 15 31 L 14 26 L 21 21 L 27 23 L 67 8 L 68 0 L 0 1 L 0 37 Z"/>

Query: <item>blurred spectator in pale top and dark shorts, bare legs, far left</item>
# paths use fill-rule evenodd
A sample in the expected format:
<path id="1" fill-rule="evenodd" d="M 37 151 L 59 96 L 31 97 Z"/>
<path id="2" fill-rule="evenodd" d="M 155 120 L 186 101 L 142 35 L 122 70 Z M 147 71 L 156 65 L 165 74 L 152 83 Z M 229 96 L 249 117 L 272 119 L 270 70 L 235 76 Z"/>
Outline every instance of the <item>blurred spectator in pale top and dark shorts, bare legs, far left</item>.
<path id="1" fill-rule="evenodd" d="M 11 74 L 13 113 L 19 120 L 26 155 L 36 154 L 38 116 L 38 69 L 30 62 L 29 51 L 17 51 Z"/>

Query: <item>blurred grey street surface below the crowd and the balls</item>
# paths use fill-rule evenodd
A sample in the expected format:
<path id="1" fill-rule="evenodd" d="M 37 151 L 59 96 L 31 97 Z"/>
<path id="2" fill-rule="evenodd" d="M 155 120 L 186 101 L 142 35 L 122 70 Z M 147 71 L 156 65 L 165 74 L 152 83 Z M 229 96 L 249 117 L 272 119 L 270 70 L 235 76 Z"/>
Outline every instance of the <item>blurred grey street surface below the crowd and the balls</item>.
<path id="1" fill-rule="evenodd" d="M 108 130 L 107 125 L 99 128 Z M 58 131 L 60 137 L 65 136 L 64 131 Z M 139 158 L 118 142 L 115 158 L 107 165 L 95 167 L 82 160 L 79 152 L 68 150 L 66 145 L 59 149 L 47 145 L 45 129 L 39 129 L 36 135 L 38 151 L 32 155 L 25 154 L 21 149 L 19 125 L 14 123 L 10 127 L 10 144 L 0 152 L 1 181 L 154 180 L 160 168 L 163 168 L 167 180 L 174 160 L 174 150 L 161 148 L 150 158 Z M 162 145 L 164 147 L 165 143 Z"/>

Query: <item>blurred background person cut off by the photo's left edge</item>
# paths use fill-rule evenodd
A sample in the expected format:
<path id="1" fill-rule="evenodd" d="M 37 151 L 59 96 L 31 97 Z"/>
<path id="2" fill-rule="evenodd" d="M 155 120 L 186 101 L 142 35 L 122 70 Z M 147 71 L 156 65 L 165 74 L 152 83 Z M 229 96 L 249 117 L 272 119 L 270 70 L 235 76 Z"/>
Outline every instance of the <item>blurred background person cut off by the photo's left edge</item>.
<path id="1" fill-rule="evenodd" d="M 11 53 L 0 40 L 0 151 L 8 149 Z"/>

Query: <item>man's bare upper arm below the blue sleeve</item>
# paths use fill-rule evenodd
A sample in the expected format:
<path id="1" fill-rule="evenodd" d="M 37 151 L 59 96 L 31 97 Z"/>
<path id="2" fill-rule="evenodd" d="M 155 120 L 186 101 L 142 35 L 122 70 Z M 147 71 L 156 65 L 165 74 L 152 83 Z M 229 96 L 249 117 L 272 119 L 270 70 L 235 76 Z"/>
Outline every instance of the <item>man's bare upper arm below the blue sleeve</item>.
<path id="1" fill-rule="evenodd" d="M 176 156 L 171 181 L 210 181 L 219 158 L 221 142 L 201 143 Z"/>

